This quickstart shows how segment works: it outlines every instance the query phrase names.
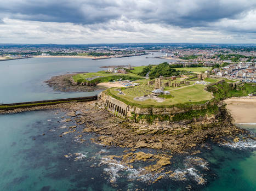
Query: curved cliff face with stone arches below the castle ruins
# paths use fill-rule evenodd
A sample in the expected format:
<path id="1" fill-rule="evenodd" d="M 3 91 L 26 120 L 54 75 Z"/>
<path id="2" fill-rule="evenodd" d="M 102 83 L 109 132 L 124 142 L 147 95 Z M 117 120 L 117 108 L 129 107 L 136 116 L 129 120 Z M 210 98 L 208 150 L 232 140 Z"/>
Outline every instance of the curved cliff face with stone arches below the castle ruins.
<path id="1" fill-rule="evenodd" d="M 128 105 L 121 102 L 105 92 L 100 94 L 106 109 L 121 118 L 129 118 L 140 123 L 159 123 L 159 122 L 198 122 L 207 121 L 215 118 L 218 114 L 218 107 L 211 102 L 201 105 L 190 105 L 186 107 L 173 106 L 172 108 L 139 108 L 138 106 Z"/>

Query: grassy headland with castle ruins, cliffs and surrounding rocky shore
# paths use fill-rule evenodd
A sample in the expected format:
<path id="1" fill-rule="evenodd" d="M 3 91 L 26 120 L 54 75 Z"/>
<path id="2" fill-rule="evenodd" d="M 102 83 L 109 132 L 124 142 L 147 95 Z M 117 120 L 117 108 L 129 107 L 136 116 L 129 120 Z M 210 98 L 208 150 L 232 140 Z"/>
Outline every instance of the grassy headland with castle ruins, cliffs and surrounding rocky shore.
<path id="1" fill-rule="evenodd" d="M 109 68 L 98 73 L 57 77 L 70 86 L 64 88 L 62 83 L 60 91 L 111 84 L 122 87 L 106 89 L 98 96 L 99 100 L 93 102 L 35 106 L 27 110 L 64 110 L 75 117 L 77 124 L 86 124 L 81 133 L 96 133 L 94 141 L 107 146 L 191 154 L 198 152 L 197 148 L 209 140 L 225 144 L 240 139 L 255 139 L 233 124 L 234 120 L 223 102 L 226 98 L 255 92 L 253 84 L 216 79 L 208 71 L 200 74 L 178 73 L 168 65 L 163 63 L 144 69 L 132 69 L 130 66 Z M 60 86 L 61 83 L 56 83 L 54 77 L 52 80 L 50 85 L 55 85 L 55 88 Z M 73 128 L 76 127 L 66 133 L 72 133 Z"/>

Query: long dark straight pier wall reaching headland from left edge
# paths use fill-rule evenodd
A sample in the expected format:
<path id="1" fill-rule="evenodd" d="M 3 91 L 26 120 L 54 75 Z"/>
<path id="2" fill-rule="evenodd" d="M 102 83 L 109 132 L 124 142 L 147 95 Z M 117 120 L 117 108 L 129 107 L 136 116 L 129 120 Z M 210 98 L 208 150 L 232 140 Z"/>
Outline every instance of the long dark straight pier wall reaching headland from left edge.
<path id="1" fill-rule="evenodd" d="M 35 106 L 44 106 L 44 105 L 55 105 L 68 102 L 89 102 L 97 100 L 98 96 L 89 96 L 89 97 L 79 97 L 79 98 L 65 98 L 65 99 L 52 99 L 52 100 L 41 100 L 36 102 L 21 102 L 21 103 L 12 103 L 12 104 L 1 104 L 0 110 L 12 110 L 17 108 L 31 108 Z"/>

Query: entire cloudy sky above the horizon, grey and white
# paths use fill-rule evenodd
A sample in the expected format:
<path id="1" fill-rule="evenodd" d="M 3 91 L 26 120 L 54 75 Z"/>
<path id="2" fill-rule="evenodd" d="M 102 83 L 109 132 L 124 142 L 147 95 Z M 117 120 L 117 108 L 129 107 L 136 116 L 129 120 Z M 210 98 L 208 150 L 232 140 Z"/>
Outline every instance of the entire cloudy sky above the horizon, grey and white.
<path id="1" fill-rule="evenodd" d="M 1 0 L 0 43 L 256 43 L 256 1 Z"/>

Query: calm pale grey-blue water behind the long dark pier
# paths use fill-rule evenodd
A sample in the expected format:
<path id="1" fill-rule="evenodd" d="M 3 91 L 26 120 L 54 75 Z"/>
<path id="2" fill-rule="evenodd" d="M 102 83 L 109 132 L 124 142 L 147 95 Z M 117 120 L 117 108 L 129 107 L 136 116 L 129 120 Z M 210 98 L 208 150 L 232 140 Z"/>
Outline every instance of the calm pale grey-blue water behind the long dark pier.
<path id="1" fill-rule="evenodd" d="M 52 76 L 79 72 L 99 71 L 104 65 L 148 65 L 170 62 L 143 55 L 124 58 L 92 60 L 90 58 L 29 58 L 0 62 L 0 104 L 31 102 L 36 100 L 94 96 L 95 92 L 56 92 L 48 87 L 45 80 Z"/>

